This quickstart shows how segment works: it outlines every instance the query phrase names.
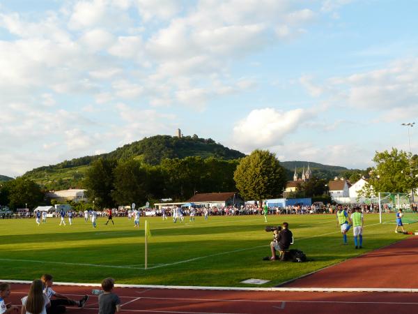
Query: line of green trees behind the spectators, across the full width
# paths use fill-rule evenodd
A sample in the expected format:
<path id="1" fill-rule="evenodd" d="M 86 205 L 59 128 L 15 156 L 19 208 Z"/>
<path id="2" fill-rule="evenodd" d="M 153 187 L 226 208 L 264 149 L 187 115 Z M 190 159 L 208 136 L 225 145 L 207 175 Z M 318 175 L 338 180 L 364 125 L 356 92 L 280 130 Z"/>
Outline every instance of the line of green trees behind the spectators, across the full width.
<path id="1" fill-rule="evenodd" d="M 409 193 L 418 186 L 418 156 L 405 151 L 376 152 L 376 167 L 368 168 L 367 193 Z M 353 175 L 353 173 L 351 173 Z M 362 173 L 356 174 L 356 179 Z M 141 158 L 116 160 L 99 158 L 86 172 L 84 187 L 88 190 L 89 204 L 96 208 L 114 207 L 118 204 L 140 206 L 162 199 L 185 201 L 196 193 L 238 191 L 245 200 L 281 197 L 286 187 L 287 174 L 276 156 L 270 151 L 257 149 L 245 158 L 164 158 L 159 165 L 150 165 Z M 301 182 L 295 197 L 312 197 L 326 192 L 324 179 Z M 297 195 L 296 195 L 297 194 Z M 288 197 L 291 195 L 288 195 Z M 45 191 L 30 179 L 18 177 L 0 184 L 0 204 L 11 209 L 33 208 L 45 204 Z M 81 207 L 80 207 L 81 208 Z"/>

